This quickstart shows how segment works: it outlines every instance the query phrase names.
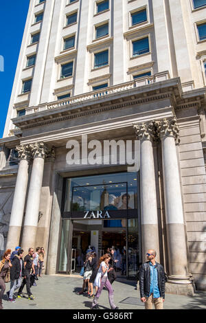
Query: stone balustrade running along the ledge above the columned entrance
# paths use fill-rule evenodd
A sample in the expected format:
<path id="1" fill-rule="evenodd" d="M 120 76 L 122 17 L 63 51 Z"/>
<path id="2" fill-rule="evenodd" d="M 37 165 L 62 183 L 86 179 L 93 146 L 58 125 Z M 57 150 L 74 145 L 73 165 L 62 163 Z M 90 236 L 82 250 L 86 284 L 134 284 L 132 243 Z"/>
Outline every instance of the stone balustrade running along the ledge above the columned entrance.
<path id="1" fill-rule="evenodd" d="M 106 87 L 104 89 L 91 91 L 89 93 L 83 93 L 80 96 L 65 98 L 49 104 L 40 104 L 38 105 L 38 107 L 28 107 L 26 109 L 26 115 L 30 115 L 32 113 L 38 113 L 49 109 L 57 109 L 68 105 L 73 106 L 75 104 L 82 103 L 89 100 L 97 100 L 97 101 L 104 100 L 106 96 L 110 96 L 111 94 L 122 93 L 124 91 L 128 91 L 129 89 L 134 89 L 136 87 L 141 87 L 144 85 L 150 85 L 151 83 L 168 80 L 169 78 L 170 78 L 170 74 L 168 71 L 155 74 L 154 76 L 144 76 L 142 78 L 138 78 L 136 80 L 133 80 L 131 82 L 126 82 L 121 85 L 115 85 L 112 87 Z"/>

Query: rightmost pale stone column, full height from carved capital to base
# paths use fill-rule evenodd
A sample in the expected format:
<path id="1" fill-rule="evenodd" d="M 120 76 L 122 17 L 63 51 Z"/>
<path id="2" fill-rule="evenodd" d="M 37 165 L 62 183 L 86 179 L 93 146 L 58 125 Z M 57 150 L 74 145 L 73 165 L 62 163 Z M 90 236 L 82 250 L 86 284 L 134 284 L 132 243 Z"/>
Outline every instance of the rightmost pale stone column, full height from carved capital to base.
<path id="1" fill-rule="evenodd" d="M 176 119 L 161 120 L 155 123 L 161 138 L 163 159 L 163 186 L 165 197 L 165 217 L 168 241 L 169 281 L 179 284 L 190 284 L 187 272 L 187 248 L 183 219 L 183 201 L 176 141 L 179 140 L 179 129 Z"/>

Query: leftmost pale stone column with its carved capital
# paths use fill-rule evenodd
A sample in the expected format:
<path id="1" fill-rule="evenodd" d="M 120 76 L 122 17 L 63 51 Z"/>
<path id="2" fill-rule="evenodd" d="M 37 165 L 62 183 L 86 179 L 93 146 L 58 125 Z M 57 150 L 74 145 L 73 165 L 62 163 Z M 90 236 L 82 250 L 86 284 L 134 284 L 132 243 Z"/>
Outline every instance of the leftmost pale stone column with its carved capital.
<path id="1" fill-rule="evenodd" d="M 19 245 L 23 212 L 25 208 L 25 196 L 27 192 L 28 170 L 31 159 L 30 147 L 17 146 L 19 154 L 19 170 L 16 178 L 12 212 L 10 216 L 10 227 L 8 231 L 7 248 L 14 249 Z"/>

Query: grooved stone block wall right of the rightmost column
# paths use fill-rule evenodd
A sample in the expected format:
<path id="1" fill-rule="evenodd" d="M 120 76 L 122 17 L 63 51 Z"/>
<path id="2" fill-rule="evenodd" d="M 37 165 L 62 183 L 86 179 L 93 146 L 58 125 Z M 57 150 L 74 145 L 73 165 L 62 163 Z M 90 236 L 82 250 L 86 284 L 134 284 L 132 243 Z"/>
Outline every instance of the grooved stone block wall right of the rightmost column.
<path id="1" fill-rule="evenodd" d="M 179 120 L 179 127 L 179 157 L 190 271 L 196 289 L 205 289 L 206 174 L 199 117 L 183 118 Z"/>

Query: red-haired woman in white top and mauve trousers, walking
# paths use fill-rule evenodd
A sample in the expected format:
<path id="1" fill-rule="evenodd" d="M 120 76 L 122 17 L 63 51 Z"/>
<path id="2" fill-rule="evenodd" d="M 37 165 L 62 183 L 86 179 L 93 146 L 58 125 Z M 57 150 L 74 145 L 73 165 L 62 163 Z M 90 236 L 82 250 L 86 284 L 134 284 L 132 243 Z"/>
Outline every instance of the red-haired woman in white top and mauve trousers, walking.
<path id="1" fill-rule="evenodd" d="M 119 309 L 114 303 L 114 292 L 113 288 L 111 286 L 111 283 L 108 280 L 107 274 L 111 270 L 109 269 L 108 262 L 111 259 L 111 256 L 109 254 L 104 254 L 99 260 L 98 264 L 98 274 L 95 278 L 94 286 L 98 286 L 98 291 L 95 294 L 95 297 L 93 299 L 91 309 L 99 309 L 98 307 L 98 300 L 100 298 L 100 295 L 102 293 L 102 289 L 105 286 L 108 290 L 108 301 L 111 306 L 111 309 Z"/>

